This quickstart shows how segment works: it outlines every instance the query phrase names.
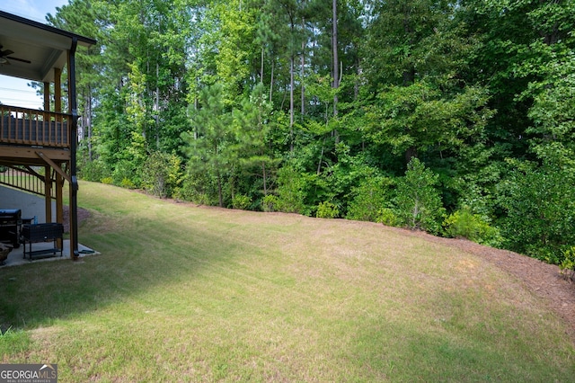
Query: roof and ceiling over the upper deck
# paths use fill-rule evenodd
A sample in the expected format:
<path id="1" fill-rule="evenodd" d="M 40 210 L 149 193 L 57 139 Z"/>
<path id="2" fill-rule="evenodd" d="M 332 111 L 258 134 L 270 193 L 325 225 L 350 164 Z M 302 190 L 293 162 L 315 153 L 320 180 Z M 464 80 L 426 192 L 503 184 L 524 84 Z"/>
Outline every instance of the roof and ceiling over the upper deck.
<path id="1" fill-rule="evenodd" d="M 93 39 L 0 11 L 0 46 L 3 51 L 13 51 L 4 57 L 7 62 L 0 63 L 0 74 L 31 81 L 53 82 L 53 68 L 62 69 L 66 66 L 66 53 L 73 39 L 77 39 L 78 45 L 84 47 L 96 43 Z M 20 58 L 27 62 L 10 58 Z"/>

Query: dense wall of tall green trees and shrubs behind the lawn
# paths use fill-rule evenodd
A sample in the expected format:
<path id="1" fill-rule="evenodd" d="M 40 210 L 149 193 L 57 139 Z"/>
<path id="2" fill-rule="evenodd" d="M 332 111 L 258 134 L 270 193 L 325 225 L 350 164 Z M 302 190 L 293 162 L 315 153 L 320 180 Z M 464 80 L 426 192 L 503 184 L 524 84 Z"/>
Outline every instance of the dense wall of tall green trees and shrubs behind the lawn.
<path id="1" fill-rule="evenodd" d="M 571 0 L 70 0 L 85 179 L 575 257 Z"/>

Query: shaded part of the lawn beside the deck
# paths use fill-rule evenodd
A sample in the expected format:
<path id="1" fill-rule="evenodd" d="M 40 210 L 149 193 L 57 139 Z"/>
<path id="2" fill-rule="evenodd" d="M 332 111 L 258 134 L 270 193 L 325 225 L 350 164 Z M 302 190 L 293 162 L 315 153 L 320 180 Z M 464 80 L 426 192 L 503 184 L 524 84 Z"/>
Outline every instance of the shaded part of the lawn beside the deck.
<path id="1" fill-rule="evenodd" d="M 144 207 L 149 210 L 150 207 Z M 102 256 L 83 261 L 31 263 L 3 270 L 0 321 L 4 328 L 34 327 L 55 318 L 102 307 L 154 289 L 178 275 L 193 275 L 207 262 L 225 262 L 238 245 L 177 221 L 118 214 L 109 219 L 94 212 L 81 238 Z M 108 227 L 110 223 L 110 227 Z M 95 226 L 94 226 L 95 225 Z M 85 231 L 93 233 L 84 235 Z M 186 231 L 182 237 L 182 231 Z M 178 247 L 175 244 L 186 245 Z M 217 243 L 219 249 L 208 249 Z"/>

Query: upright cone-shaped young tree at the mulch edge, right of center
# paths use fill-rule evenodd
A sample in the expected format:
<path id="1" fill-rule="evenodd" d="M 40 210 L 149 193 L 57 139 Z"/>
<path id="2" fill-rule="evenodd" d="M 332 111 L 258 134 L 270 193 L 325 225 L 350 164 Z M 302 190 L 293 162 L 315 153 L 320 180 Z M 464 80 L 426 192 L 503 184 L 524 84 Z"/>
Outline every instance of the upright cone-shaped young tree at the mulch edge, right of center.
<path id="1" fill-rule="evenodd" d="M 438 234 L 445 209 L 441 202 L 438 175 L 416 157 L 411 158 L 405 176 L 397 180 L 395 205 L 401 225 Z"/>

